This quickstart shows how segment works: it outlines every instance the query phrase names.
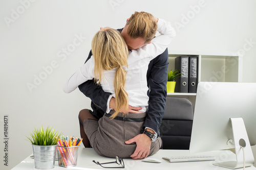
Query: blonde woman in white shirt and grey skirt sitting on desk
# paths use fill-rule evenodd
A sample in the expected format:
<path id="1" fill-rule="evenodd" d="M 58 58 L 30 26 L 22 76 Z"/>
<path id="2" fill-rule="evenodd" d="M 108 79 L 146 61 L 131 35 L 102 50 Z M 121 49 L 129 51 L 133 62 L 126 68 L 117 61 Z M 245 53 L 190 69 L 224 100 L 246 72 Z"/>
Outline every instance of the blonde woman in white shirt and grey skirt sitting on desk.
<path id="1" fill-rule="evenodd" d="M 125 144 L 124 141 L 143 130 L 148 101 L 147 66 L 154 57 L 164 52 L 175 33 L 163 19 L 154 22 L 158 24 L 161 35 L 154 38 L 152 43 L 130 52 L 116 30 L 104 28 L 97 32 L 92 41 L 93 56 L 63 87 L 65 92 L 71 92 L 81 83 L 96 78 L 102 89 L 111 92 L 115 98 L 115 111 L 105 113 L 99 121 L 87 119 L 83 123 L 90 144 L 102 156 L 129 158 L 136 144 Z M 128 105 L 140 106 L 143 113 L 119 113 L 123 106 L 127 110 Z M 150 155 L 160 149 L 161 143 L 160 138 L 152 142 Z"/>

